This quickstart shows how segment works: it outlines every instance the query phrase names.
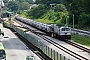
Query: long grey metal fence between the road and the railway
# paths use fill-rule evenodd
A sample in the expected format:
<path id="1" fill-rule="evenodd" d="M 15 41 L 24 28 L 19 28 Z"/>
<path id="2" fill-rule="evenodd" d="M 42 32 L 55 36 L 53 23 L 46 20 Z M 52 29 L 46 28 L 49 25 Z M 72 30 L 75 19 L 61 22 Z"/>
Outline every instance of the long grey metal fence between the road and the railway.
<path id="1" fill-rule="evenodd" d="M 45 43 L 41 41 L 39 37 L 36 37 L 32 34 L 28 34 L 24 32 L 22 29 L 16 27 L 12 24 L 6 24 L 5 26 L 14 29 L 17 33 L 19 33 L 21 36 L 23 36 L 25 39 L 27 39 L 29 42 L 31 42 L 33 45 L 41 49 L 47 56 L 52 58 L 53 60 L 70 60 L 66 56 L 60 54 L 59 52 L 53 50 L 51 47 L 47 46 Z"/>

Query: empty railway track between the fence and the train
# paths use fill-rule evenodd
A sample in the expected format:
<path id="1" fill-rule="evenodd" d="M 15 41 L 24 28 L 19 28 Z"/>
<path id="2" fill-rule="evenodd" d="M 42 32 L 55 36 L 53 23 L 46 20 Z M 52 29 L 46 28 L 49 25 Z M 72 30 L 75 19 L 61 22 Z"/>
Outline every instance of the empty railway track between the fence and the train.
<path id="1" fill-rule="evenodd" d="M 23 26 L 24 24 L 21 24 L 21 25 Z M 24 27 L 25 27 L 25 25 L 24 25 Z M 27 26 L 26 26 L 26 27 L 27 27 Z M 85 58 L 85 57 L 83 57 L 83 56 L 81 56 L 81 55 L 79 55 L 79 54 L 77 54 L 77 53 L 75 53 L 75 52 L 73 52 L 73 51 L 71 51 L 71 50 L 63 47 L 62 45 L 60 45 L 60 44 L 52 41 L 51 39 L 47 38 L 45 35 L 41 35 L 41 34 L 39 34 L 39 33 L 36 33 L 34 30 L 31 30 L 31 29 L 28 28 L 28 27 L 27 27 L 27 29 L 29 29 L 32 33 L 38 35 L 39 37 L 43 38 L 43 39 L 46 40 L 47 42 L 51 43 L 52 45 L 56 46 L 56 47 L 59 48 L 60 50 L 68 53 L 69 55 L 71 55 L 71 56 L 73 56 L 73 57 L 75 57 L 76 59 L 79 59 L 79 60 L 88 60 L 87 58 Z"/>

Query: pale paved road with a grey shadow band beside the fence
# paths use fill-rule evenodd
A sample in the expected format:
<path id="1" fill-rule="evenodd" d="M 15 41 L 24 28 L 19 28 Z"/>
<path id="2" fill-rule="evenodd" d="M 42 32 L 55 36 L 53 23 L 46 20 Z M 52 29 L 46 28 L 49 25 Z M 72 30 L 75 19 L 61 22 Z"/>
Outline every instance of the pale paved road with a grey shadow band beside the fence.
<path id="1" fill-rule="evenodd" d="M 36 60 L 41 60 L 30 49 L 28 49 L 28 47 L 21 42 L 21 40 L 11 32 L 11 30 L 3 28 L 2 24 L 0 24 L 0 28 L 5 33 L 4 37 L 8 37 L 4 38 L 3 36 L 0 36 L 0 40 L 5 47 L 6 60 L 26 60 L 26 56 L 28 55 L 33 55 L 36 57 Z"/>

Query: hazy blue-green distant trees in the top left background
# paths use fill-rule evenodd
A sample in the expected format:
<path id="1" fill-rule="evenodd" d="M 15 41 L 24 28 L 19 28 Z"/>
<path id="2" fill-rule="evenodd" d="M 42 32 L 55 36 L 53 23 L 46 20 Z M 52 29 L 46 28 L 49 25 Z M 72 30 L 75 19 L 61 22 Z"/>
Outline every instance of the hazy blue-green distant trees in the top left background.
<path id="1" fill-rule="evenodd" d="M 8 11 L 21 13 L 24 10 L 30 9 L 30 3 L 34 3 L 33 0 L 5 0 L 5 8 Z"/>

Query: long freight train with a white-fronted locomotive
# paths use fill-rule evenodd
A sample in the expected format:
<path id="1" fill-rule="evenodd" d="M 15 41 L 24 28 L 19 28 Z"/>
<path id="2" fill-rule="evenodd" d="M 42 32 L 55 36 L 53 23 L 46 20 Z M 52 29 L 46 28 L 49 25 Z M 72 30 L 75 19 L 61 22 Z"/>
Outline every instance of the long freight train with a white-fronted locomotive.
<path id="1" fill-rule="evenodd" d="M 59 38 L 60 40 L 68 41 L 71 39 L 71 28 L 68 26 L 62 26 L 59 24 L 45 24 L 32 19 L 20 17 L 19 15 L 16 15 L 14 19 L 47 32 L 50 36 L 53 34 L 53 37 Z"/>

